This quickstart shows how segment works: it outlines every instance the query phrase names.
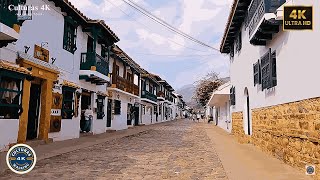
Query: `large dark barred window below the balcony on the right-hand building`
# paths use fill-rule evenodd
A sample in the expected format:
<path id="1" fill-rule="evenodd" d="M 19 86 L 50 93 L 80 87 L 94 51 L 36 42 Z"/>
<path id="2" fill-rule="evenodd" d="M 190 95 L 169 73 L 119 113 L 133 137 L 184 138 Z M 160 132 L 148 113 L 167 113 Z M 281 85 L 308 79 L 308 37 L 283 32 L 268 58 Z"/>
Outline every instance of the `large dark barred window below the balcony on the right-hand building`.
<path id="1" fill-rule="evenodd" d="M 262 90 L 277 85 L 276 51 L 271 49 L 261 58 L 261 84 Z"/>

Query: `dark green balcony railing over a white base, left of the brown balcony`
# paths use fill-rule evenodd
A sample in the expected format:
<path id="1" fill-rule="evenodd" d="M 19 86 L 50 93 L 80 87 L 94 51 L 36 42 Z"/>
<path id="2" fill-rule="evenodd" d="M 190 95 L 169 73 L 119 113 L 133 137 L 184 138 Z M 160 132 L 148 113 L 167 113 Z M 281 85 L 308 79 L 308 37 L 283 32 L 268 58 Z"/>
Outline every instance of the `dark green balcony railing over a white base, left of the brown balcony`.
<path id="1" fill-rule="evenodd" d="M 80 69 L 81 70 L 91 70 L 92 66 L 95 66 L 96 71 L 98 71 L 99 73 L 108 76 L 109 63 L 106 58 L 103 58 L 93 52 L 81 53 Z"/>

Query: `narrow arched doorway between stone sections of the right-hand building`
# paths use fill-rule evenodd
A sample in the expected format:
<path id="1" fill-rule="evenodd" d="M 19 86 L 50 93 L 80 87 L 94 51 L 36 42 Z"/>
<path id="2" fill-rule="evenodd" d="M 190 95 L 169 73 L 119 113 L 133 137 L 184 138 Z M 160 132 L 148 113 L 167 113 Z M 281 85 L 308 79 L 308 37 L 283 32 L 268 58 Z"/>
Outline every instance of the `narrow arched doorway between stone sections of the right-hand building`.
<path id="1" fill-rule="evenodd" d="M 251 109 L 250 109 L 250 96 L 248 88 L 244 89 L 244 112 L 243 112 L 244 129 L 248 135 L 251 135 Z"/>

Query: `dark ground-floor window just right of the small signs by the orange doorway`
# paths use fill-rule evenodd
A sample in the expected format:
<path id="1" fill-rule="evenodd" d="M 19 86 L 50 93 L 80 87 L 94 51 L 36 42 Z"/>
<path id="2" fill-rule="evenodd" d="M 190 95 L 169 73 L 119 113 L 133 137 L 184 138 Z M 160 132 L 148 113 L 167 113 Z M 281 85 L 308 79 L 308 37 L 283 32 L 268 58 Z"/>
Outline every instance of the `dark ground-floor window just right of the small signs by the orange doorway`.
<path id="1" fill-rule="evenodd" d="M 62 119 L 72 119 L 74 115 L 74 88 L 62 87 Z"/>

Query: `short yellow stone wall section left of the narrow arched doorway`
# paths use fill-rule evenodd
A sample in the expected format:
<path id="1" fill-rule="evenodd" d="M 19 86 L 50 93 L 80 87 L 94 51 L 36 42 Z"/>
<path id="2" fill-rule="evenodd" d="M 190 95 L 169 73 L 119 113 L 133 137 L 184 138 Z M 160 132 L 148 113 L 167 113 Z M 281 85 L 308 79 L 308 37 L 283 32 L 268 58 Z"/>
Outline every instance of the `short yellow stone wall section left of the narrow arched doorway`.
<path id="1" fill-rule="evenodd" d="M 232 113 L 232 134 L 240 143 L 250 143 L 251 137 L 246 135 L 243 129 L 243 113 Z"/>

